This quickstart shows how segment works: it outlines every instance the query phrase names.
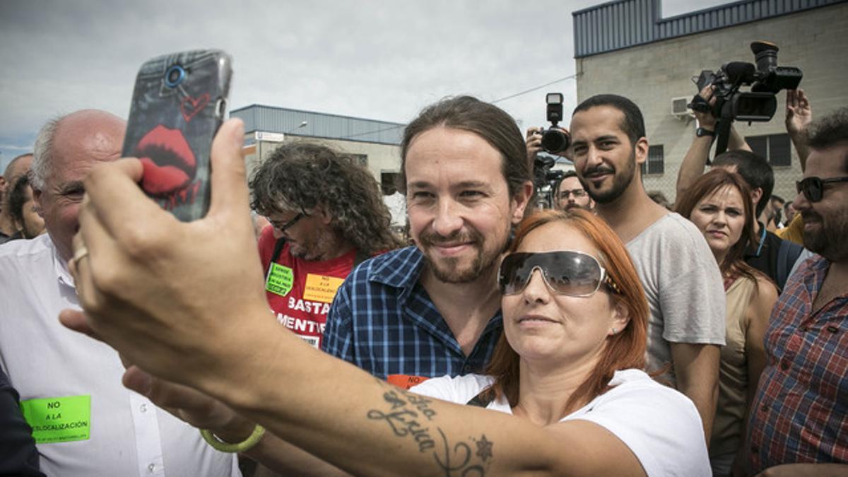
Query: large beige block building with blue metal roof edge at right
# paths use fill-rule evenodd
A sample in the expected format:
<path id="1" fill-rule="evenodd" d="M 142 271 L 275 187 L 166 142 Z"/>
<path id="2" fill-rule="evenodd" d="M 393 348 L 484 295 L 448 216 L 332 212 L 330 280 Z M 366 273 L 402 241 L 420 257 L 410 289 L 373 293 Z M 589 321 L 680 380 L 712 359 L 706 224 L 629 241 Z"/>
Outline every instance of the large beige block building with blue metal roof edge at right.
<path id="1" fill-rule="evenodd" d="M 633 99 L 642 109 L 649 158 L 644 185 L 675 196 L 678 168 L 695 137 L 686 104 L 701 70 L 753 63 L 750 43 L 778 45 L 778 65 L 803 70 L 813 117 L 848 106 L 848 3 L 840 0 L 745 0 L 662 18 L 661 0 L 618 0 L 572 13 L 577 101 L 598 93 Z M 785 93 L 772 121 L 736 122 L 775 172 L 774 194 L 795 197 L 801 177 L 784 127 Z"/>

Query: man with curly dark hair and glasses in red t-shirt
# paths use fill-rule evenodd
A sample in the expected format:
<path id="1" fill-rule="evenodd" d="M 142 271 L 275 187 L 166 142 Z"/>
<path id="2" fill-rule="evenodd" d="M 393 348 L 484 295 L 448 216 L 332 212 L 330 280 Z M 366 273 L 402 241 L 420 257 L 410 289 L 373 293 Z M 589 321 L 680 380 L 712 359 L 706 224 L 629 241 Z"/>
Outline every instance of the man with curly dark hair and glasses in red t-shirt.
<path id="1" fill-rule="evenodd" d="M 315 143 L 287 143 L 250 182 L 265 294 L 276 319 L 315 348 L 327 311 L 354 266 L 397 248 L 377 181 L 364 166 Z"/>

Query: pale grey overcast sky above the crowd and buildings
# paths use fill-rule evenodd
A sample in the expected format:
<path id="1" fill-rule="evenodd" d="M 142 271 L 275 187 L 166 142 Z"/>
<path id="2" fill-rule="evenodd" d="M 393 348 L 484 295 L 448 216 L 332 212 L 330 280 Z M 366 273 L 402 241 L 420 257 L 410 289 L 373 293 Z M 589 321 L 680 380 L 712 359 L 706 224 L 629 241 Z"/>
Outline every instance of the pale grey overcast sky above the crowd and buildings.
<path id="1" fill-rule="evenodd" d="M 54 115 L 126 117 L 138 66 L 161 53 L 231 53 L 231 109 L 407 122 L 445 96 L 494 101 L 572 76 L 572 11 L 600 3 L 0 0 L 0 173 Z M 664 0 L 663 16 L 721 3 Z M 573 109 L 573 79 L 498 104 L 540 125 L 549 92 Z"/>

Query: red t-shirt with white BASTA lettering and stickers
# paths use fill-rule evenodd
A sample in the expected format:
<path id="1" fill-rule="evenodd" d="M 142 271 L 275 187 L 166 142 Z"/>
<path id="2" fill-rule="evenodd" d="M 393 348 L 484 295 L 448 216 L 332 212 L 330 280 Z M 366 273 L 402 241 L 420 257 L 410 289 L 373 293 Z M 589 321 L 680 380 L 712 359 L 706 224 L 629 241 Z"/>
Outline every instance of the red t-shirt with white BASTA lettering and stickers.
<path id="1" fill-rule="evenodd" d="M 315 348 L 321 348 L 326 313 L 336 290 L 354 267 L 356 250 L 328 261 L 305 261 L 289 253 L 289 244 L 274 255 L 274 227 L 259 235 L 259 257 L 265 269 L 265 296 L 276 320 Z"/>

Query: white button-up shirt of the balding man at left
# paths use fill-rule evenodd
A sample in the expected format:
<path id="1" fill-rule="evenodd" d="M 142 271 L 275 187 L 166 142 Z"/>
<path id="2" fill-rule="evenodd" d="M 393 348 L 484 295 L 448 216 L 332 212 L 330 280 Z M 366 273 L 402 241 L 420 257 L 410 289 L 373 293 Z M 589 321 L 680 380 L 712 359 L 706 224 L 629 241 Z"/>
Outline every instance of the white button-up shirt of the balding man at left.
<path id="1" fill-rule="evenodd" d="M 215 451 L 197 429 L 127 390 L 118 353 L 64 328 L 59 323 L 64 308 L 79 309 L 79 302 L 73 278 L 47 233 L 0 246 L 0 367 L 20 400 L 91 396 L 89 438 L 37 444 L 42 472 L 81 477 L 241 474 L 235 454 Z"/>

